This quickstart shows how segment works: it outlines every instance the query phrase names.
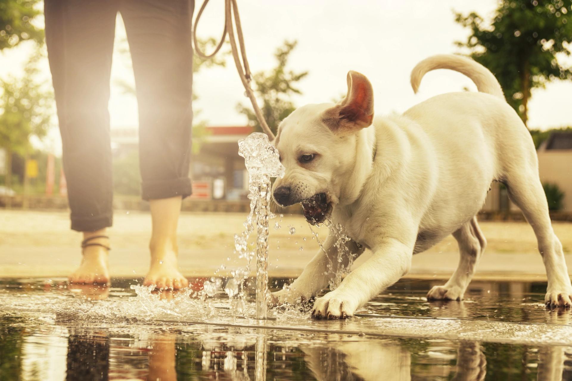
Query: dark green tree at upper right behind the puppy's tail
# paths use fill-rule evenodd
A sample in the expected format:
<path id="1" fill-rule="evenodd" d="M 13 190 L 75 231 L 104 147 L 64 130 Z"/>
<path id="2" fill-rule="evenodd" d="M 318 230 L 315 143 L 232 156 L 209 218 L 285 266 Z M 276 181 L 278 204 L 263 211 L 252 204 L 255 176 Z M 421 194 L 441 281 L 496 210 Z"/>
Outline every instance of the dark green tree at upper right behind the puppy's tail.
<path id="1" fill-rule="evenodd" d="M 476 13 L 456 13 L 456 22 L 470 29 L 459 47 L 470 50 L 501 83 L 507 102 L 527 123 L 530 90 L 553 79 L 571 79 L 572 70 L 557 61 L 570 55 L 570 0 L 500 0 L 492 21 Z"/>

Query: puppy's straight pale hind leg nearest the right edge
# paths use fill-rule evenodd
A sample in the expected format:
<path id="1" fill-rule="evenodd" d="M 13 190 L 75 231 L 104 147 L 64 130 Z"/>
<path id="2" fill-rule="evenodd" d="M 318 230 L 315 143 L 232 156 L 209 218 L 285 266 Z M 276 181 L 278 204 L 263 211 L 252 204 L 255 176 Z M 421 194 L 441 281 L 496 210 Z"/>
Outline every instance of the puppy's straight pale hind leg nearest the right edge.
<path id="1" fill-rule="evenodd" d="M 554 234 L 546 195 L 538 177 L 538 170 L 526 169 L 507 175 L 506 186 L 509 198 L 521 208 L 526 220 L 533 227 L 542 255 L 548 286 L 545 303 L 550 307 L 572 305 L 572 284 L 566 268 L 562 244 Z"/>

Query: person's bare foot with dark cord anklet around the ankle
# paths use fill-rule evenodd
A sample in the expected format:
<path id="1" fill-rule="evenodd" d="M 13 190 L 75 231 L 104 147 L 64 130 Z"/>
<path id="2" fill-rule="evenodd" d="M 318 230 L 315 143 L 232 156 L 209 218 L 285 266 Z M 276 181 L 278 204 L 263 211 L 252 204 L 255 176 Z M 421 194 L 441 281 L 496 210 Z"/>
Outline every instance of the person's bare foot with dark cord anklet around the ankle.
<path id="1" fill-rule="evenodd" d="M 84 232 L 80 267 L 69 276 L 70 283 L 109 283 L 109 238 L 105 229 Z"/>

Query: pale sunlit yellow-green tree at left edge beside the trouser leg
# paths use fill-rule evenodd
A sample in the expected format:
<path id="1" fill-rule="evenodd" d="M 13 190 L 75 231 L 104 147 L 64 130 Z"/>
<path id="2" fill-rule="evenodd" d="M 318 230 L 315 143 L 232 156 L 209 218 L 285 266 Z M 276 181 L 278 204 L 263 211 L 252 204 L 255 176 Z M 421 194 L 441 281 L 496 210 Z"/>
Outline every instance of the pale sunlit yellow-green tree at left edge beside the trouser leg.
<path id="1" fill-rule="evenodd" d="M 54 114 L 53 93 L 37 81 L 41 57 L 38 52 L 29 59 L 21 78 L 0 80 L 0 148 L 6 151 L 7 187 L 11 186 L 12 154 L 26 154 L 31 137 L 44 137 Z"/>

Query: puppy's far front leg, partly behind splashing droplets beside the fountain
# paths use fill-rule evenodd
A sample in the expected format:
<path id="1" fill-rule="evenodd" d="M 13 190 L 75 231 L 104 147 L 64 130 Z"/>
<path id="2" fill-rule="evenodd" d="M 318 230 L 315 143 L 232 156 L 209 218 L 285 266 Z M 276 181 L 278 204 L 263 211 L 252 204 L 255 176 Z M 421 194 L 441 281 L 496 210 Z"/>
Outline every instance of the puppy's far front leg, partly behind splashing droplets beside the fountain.
<path id="1" fill-rule="evenodd" d="M 335 246 L 337 236 L 328 235 L 323 246 L 316 256 L 308 263 L 302 274 L 292 284 L 284 290 L 272 293 L 274 304 L 295 303 L 298 300 L 305 301 L 312 296 L 319 294 L 323 288 L 328 286 L 330 280 L 336 276 L 340 266 L 346 267 L 349 258 L 344 256 L 341 262 L 338 260 L 338 248 Z M 344 243 L 347 250 L 344 253 L 351 253 L 359 256 L 364 251 L 363 247 L 352 240 Z M 323 248 L 323 250 L 322 250 Z"/>

